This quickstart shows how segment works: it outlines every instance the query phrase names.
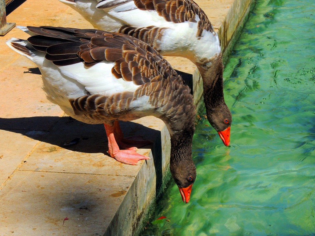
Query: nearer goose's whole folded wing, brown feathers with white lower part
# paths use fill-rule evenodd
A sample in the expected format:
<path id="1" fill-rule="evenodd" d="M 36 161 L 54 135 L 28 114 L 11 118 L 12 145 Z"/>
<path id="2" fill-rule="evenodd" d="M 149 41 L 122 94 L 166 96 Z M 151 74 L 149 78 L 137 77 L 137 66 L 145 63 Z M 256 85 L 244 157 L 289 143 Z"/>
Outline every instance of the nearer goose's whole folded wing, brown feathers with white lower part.
<path id="1" fill-rule="evenodd" d="M 111 87 L 104 79 L 106 73 L 111 74 L 112 87 L 116 86 L 115 80 L 121 81 L 129 84 L 123 89 L 130 92 L 153 78 L 178 76 L 156 50 L 134 37 L 99 30 L 27 28 L 36 34 L 28 42 L 45 52 L 45 58 L 57 65 L 61 73 L 79 81 L 91 94 L 104 94 L 102 89 Z"/>

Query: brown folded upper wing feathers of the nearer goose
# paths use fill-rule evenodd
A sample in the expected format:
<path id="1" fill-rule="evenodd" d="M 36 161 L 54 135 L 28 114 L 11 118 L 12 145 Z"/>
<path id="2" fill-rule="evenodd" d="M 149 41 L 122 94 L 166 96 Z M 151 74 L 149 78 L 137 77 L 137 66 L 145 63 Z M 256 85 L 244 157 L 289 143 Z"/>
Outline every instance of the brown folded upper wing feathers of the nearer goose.
<path id="1" fill-rule="evenodd" d="M 55 65 L 84 62 L 86 67 L 90 67 L 103 60 L 112 61 L 115 62 L 112 74 L 136 85 L 148 83 L 158 75 L 177 76 L 156 50 L 134 37 L 99 30 L 49 26 L 28 28 L 39 34 L 28 41 L 34 48 L 41 47 L 47 53 L 46 59 Z M 154 29 L 152 34 L 157 30 Z"/>

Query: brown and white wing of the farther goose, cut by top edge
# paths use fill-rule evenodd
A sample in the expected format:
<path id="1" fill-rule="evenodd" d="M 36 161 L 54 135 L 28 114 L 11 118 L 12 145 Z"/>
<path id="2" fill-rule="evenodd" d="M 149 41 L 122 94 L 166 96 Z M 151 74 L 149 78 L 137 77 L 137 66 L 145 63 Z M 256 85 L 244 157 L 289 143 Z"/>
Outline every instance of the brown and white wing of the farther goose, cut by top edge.
<path id="1" fill-rule="evenodd" d="M 96 7 L 134 27 L 198 22 L 199 37 L 203 30 L 214 31 L 207 15 L 192 0 L 102 0 Z"/>

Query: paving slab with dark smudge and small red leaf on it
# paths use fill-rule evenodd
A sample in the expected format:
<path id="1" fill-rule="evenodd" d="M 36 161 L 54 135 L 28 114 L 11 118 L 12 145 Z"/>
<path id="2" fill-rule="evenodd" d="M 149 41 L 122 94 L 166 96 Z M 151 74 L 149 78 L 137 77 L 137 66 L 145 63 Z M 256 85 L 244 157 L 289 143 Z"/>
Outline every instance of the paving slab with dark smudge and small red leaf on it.
<path id="1" fill-rule="evenodd" d="M 0 211 L 0 235 L 103 235 L 134 179 L 17 171 L 0 192 L 11 206 Z"/>

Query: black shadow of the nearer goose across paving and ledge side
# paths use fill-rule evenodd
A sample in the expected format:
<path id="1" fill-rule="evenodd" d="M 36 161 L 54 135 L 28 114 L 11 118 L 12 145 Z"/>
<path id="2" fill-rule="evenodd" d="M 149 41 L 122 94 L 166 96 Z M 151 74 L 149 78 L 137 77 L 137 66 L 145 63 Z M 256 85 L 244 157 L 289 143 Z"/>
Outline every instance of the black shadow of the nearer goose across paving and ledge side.
<path id="1" fill-rule="evenodd" d="M 152 144 L 139 148 L 152 150 L 158 198 L 163 186 L 161 132 L 130 121 L 120 121 L 120 126 L 124 137 L 141 135 L 143 139 L 152 141 Z M 20 133 L 26 137 L 74 152 L 108 155 L 108 141 L 103 124 L 90 125 L 69 116 L 0 117 L 0 129 Z M 65 146 L 73 140 L 76 140 L 74 144 Z"/>

